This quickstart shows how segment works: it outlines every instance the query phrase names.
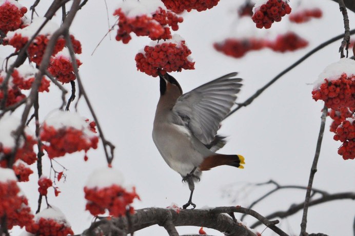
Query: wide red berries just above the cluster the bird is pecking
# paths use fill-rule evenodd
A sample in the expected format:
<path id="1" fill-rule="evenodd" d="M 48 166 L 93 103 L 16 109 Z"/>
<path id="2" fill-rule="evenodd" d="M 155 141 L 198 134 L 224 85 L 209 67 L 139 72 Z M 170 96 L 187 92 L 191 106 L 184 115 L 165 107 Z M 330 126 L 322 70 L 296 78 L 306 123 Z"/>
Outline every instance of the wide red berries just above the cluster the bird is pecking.
<path id="1" fill-rule="evenodd" d="M 151 15 L 139 15 L 128 17 L 119 8 L 113 15 L 119 16 L 119 29 L 117 30 L 116 40 L 127 44 L 131 40 L 130 33 L 137 36 L 149 36 L 151 40 L 167 40 L 171 38 L 169 25 L 172 30 L 179 29 L 178 23 L 183 22 L 183 17 L 179 17 L 171 11 L 165 11 L 162 8 L 157 9 Z"/>

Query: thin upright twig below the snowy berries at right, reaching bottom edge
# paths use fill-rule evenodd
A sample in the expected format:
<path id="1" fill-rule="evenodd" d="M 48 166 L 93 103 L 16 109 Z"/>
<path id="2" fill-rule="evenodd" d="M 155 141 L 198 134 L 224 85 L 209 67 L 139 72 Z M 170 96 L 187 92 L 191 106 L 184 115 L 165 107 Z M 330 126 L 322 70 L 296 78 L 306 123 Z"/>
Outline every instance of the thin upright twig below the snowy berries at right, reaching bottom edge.
<path id="1" fill-rule="evenodd" d="M 315 174 L 315 172 L 317 172 L 317 164 L 318 164 L 319 154 L 321 152 L 321 146 L 322 146 L 322 140 L 323 140 L 323 134 L 324 134 L 324 127 L 325 127 L 325 120 L 326 120 L 326 117 L 327 117 L 327 113 L 328 113 L 328 108 L 324 105 L 323 113 L 322 113 L 322 117 L 321 117 L 321 128 L 319 130 L 317 147 L 315 148 L 313 164 L 312 164 L 311 171 L 310 171 L 310 174 L 309 174 L 309 181 L 308 181 L 308 186 L 307 186 L 307 191 L 306 191 L 306 198 L 305 198 L 304 207 L 303 207 L 303 215 L 302 215 L 301 233 L 300 233 L 300 235 L 304 235 L 304 236 L 307 235 L 306 226 L 307 226 L 308 205 L 309 205 L 309 200 L 310 200 L 310 193 L 312 191 L 312 184 L 313 184 L 314 174 Z"/>

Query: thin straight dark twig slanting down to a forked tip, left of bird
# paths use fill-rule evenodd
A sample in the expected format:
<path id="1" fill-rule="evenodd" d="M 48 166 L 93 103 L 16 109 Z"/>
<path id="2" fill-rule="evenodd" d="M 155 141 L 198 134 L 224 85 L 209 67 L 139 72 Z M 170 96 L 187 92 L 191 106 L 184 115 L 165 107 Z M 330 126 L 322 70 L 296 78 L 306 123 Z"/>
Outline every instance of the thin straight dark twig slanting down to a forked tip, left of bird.
<path id="1" fill-rule="evenodd" d="M 96 123 L 96 127 L 97 127 L 97 130 L 98 130 L 98 133 L 100 135 L 102 144 L 104 146 L 104 151 L 105 151 L 107 163 L 111 164 L 111 162 L 113 160 L 113 151 L 114 151 L 115 146 L 111 142 L 109 142 L 109 141 L 107 141 L 105 139 L 103 130 L 101 129 L 101 126 L 100 126 L 100 123 L 98 122 L 97 116 L 96 116 L 96 114 L 95 114 L 95 112 L 94 112 L 94 110 L 93 110 L 93 108 L 91 106 L 89 97 L 88 97 L 88 95 L 85 92 L 82 80 L 80 78 L 79 71 L 77 69 L 77 63 L 76 63 L 76 58 L 75 58 L 75 54 L 74 54 L 74 48 L 73 48 L 73 45 L 71 43 L 69 33 L 65 34 L 65 40 L 66 40 L 67 47 L 69 49 L 71 61 L 72 61 L 72 64 L 73 64 L 74 74 L 76 76 L 76 81 L 77 81 L 77 84 L 78 84 L 78 87 L 79 87 L 79 90 L 80 90 L 80 94 L 82 94 L 84 96 L 86 104 L 87 104 L 87 106 L 88 106 L 88 108 L 89 108 L 89 110 L 91 112 L 91 115 L 92 115 L 92 117 L 93 117 L 93 119 L 94 119 L 94 121 Z M 110 154 L 107 151 L 107 146 L 110 148 Z"/>

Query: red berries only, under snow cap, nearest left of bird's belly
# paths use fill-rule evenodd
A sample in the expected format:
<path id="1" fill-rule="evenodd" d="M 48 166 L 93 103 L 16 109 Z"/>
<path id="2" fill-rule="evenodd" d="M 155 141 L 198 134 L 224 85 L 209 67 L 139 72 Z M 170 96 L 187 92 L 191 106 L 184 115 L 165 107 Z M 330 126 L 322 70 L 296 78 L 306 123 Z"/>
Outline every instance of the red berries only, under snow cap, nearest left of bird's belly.
<path id="1" fill-rule="evenodd" d="M 48 144 L 44 144 L 43 146 L 49 158 L 64 156 L 66 153 L 81 150 L 88 151 L 90 148 L 96 149 L 98 143 L 97 136 L 89 137 L 84 134 L 83 130 L 66 126 L 56 129 L 46 124 L 44 124 L 41 130 L 41 140 L 48 142 Z"/>

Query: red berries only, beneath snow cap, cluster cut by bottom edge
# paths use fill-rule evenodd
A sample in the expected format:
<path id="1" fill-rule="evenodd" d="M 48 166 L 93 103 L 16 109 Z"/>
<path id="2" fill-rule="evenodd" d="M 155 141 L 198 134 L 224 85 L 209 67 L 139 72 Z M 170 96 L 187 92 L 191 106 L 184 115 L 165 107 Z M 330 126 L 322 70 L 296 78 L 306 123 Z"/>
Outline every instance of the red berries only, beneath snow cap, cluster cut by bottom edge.
<path id="1" fill-rule="evenodd" d="M 36 220 L 35 223 L 26 226 L 26 231 L 41 236 L 66 236 L 74 234 L 67 222 L 42 217 Z"/>

